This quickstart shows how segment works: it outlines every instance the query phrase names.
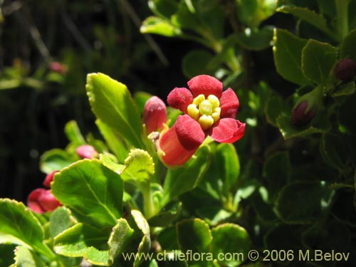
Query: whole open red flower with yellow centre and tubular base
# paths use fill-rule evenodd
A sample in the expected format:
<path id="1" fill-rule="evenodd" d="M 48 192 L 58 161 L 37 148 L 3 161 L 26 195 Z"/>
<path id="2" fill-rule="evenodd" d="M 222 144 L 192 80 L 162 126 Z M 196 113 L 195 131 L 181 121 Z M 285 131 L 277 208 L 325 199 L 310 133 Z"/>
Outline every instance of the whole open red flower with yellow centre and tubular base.
<path id="1" fill-rule="evenodd" d="M 184 112 L 159 138 L 159 155 L 168 165 L 187 162 L 208 135 L 225 143 L 244 136 L 245 123 L 235 120 L 239 99 L 234 90 L 223 92 L 222 83 L 209 75 L 192 78 L 188 86 L 174 88 L 167 98 L 172 108 Z"/>

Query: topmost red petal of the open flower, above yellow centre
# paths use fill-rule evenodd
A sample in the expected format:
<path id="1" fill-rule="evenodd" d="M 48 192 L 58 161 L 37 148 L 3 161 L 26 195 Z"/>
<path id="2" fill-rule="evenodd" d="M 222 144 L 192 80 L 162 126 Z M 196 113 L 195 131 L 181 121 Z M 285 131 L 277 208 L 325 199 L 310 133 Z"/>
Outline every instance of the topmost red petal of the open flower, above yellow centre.
<path id="1" fill-rule="evenodd" d="M 216 95 L 217 98 L 221 97 L 222 83 L 214 77 L 209 75 L 198 75 L 189 80 L 189 89 L 192 90 L 194 98 L 198 95 L 205 95 L 207 98 L 209 95 Z"/>

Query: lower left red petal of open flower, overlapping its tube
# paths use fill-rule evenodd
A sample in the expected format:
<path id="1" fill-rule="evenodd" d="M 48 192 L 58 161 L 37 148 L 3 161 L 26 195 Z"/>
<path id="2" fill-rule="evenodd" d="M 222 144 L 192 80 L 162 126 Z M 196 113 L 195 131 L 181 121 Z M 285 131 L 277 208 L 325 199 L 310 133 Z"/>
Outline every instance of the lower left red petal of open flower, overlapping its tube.
<path id="1" fill-rule="evenodd" d="M 195 150 L 204 142 L 205 135 L 199 123 L 188 115 L 180 115 L 174 123 L 174 129 L 186 150 Z"/>

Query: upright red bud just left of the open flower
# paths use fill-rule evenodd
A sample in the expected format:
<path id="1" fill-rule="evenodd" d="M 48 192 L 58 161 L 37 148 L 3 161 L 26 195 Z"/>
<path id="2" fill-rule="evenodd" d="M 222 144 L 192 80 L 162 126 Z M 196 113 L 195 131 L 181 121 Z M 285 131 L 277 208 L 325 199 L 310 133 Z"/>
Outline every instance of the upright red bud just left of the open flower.
<path id="1" fill-rule="evenodd" d="M 147 100 L 142 120 L 146 125 L 147 135 L 157 130 L 163 130 L 164 123 L 167 122 L 167 110 L 164 102 L 157 96 L 152 96 Z"/>

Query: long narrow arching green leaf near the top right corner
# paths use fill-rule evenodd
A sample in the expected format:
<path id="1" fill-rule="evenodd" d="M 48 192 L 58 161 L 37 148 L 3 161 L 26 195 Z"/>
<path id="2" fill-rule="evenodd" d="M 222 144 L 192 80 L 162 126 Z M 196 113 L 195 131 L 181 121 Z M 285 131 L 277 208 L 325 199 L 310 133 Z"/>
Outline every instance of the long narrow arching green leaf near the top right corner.
<path id="1" fill-rule="evenodd" d="M 292 14 L 293 16 L 310 23 L 315 26 L 315 28 L 318 28 L 320 31 L 328 34 L 331 38 L 334 38 L 335 41 L 339 39 L 337 34 L 330 30 L 325 18 L 322 15 L 315 13 L 315 11 L 300 6 L 281 6 L 277 11 Z"/>

